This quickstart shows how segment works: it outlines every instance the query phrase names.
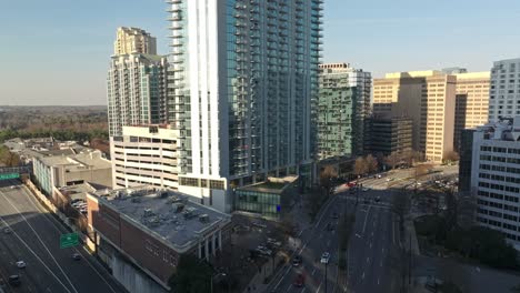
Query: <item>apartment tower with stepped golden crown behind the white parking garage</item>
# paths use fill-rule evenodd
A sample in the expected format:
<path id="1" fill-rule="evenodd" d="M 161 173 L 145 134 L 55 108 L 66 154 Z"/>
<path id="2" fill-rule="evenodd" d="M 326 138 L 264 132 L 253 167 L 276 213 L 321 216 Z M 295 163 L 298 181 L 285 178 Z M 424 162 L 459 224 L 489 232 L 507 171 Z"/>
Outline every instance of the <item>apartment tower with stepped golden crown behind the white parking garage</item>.
<path id="1" fill-rule="evenodd" d="M 156 39 L 144 31 L 127 36 L 120 29 L 107 78 L 110 137 L 121 135 L 123 125 L 167 121 L 167 58 L 156 54 Z"/>

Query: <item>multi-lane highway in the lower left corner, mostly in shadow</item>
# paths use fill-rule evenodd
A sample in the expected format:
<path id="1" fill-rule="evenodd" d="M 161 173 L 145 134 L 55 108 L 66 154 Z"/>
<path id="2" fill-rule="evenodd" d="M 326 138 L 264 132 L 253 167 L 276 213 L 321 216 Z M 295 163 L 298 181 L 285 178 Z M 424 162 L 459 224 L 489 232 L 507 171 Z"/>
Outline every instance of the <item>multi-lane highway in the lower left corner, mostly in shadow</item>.
<path id="1" fill-rule="evenodd" d="M 0 228 L 4 291 L 126 292 L 83 249 L 60 249 L 60 235 L 67 230 L 14 181 L 0 182 Z M 73 253 L 81 260 L 73 260 Z M 27 267 L 17 267 L 17 261 L 26 262 Z M 20 275 L 19 287 L 6 282 L 13 274 Z"/>

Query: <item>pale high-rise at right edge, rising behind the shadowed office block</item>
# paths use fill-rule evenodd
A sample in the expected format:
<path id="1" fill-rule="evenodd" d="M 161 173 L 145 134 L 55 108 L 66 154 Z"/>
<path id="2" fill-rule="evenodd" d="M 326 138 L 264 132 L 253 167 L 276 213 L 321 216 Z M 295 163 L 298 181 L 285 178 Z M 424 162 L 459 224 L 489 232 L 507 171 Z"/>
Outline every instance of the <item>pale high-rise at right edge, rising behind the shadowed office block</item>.
<path id="1" fill-rule="evenodd" d="M 496 61 L 491 69 L 489 121 L 520 115 L 520 58 Z"/>

